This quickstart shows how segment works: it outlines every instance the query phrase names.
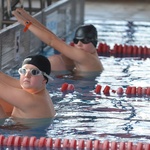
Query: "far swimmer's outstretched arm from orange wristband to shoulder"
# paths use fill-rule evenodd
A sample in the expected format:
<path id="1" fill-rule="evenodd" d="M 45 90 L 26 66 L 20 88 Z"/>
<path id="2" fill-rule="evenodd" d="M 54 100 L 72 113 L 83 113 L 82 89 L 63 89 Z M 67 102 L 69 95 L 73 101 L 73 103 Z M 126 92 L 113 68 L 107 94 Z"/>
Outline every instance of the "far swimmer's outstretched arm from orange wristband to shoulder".
<path id="1" fill-rule="evenodd" d="M 62 39 L 57 37 L 52 31 L 43 29 L 37 24 L 31 24 L 29 30 L 36 35 L 41 41 L 53 47 L 69 59 L 81 62 L 85 58 L 86 52 L 66 44 Z"/>

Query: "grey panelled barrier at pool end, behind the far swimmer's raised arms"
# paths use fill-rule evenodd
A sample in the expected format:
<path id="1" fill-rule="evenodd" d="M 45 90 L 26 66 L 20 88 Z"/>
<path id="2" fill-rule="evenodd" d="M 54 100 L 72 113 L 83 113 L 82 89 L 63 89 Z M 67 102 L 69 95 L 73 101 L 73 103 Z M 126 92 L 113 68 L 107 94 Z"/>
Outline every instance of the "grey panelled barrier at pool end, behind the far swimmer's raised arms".
<path id="1" fill-rule="evenodd" d="M 67 38 L 84 22 L 84 0 L 61 0 L 34 15 L 60 38 Z M 39 53 L 43 43 L 23 26 L 14 23 L 0 30 L 0 69 L 8 70 L 20 64 L 29 54 Z M 45 45 L 46 46 L 46 45 Z"/>

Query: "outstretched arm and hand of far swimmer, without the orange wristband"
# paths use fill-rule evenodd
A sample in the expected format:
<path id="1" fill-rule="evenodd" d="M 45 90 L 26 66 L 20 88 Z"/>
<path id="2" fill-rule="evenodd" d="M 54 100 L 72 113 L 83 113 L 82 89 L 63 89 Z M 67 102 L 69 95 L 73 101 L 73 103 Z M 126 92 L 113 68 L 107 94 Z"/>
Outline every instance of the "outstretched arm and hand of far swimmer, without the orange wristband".
<path id="1" fill-rule="evenodd" d="M 14 16 L 17 20 L 24 26 L 26 26 L 26 22 L 28 18 L 24 15 L 23 10 L 14 11 Z M 29 14 L 28 14 L 29 15 Z M 45 26 L 43 26 L 40 22 L 32 22 L 32 24 L 28 27 L 28 29 L 36 35 L 41 41 L 46 43 L 47 45 L 53 47 L 60 53 L 64 54 L 68 58 L 81 62 L 83 58 L 85 58 L 85 52 L 67 45 L 60 38 L 58 38 L 52 31 L 48 30 Z"/>

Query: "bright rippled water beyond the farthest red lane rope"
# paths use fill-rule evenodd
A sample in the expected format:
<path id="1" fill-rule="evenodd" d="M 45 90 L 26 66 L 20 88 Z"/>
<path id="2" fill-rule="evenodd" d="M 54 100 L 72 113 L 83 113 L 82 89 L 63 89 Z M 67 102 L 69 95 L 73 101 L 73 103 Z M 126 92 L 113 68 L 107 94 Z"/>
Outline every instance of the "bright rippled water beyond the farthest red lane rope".
<path id="1" fill-rule="evenodd" d="M 150 22 L 86 20 L 98 30 L 99 42 L 150 47 Z"/>

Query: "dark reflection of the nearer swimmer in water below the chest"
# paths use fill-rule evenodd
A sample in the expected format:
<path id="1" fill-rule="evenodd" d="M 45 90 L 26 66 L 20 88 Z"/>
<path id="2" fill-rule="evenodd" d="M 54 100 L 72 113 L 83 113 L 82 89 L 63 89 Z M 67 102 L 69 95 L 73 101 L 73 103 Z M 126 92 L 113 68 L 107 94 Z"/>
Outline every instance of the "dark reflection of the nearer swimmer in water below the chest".
<path id="1" fill-rule="evenodd" d="M 0 133 L 5 136 L 19 135 L 29 137 L 36 136 L 37 138 L 40 138 L 41 136 L 46 135 L 46 129 L 51 126 L 53 126 L 53 118 L 0 119 Z"/>

